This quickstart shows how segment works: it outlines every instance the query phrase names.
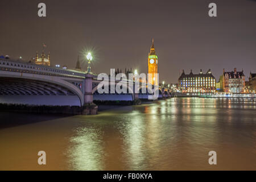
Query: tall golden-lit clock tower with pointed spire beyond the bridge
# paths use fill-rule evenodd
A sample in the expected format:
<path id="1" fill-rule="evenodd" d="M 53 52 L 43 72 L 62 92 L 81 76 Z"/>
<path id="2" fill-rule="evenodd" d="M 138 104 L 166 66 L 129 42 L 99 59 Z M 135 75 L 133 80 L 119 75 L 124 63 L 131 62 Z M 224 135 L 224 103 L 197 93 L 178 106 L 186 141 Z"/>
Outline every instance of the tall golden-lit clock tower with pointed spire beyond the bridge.
<path id="1" fill-rule="evenodd" d="M 152 39 L 152 46 L 150 48 L 150 53 L 148 53 L 148 74 L 150 74 L 148 75 L 148 84 L 158 85 L 157 73 L 158 73 L 158 56 L 156 56 L 154 39 Z"/>

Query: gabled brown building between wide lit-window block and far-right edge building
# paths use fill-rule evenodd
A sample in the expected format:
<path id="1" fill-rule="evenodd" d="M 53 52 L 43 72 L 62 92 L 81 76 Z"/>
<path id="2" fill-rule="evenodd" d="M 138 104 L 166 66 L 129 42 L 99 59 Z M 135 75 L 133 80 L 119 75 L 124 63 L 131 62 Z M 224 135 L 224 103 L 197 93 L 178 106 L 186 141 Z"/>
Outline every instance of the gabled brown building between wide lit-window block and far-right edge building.
<path id="1" fill-rule="evenodd" d="M 244 93 L 245 92 L 245 75 L 243 71 L 237 72 L 234 68 L 232 72 L 225 72 L 223 69 L 222 89 L 226 93 Z"/>

